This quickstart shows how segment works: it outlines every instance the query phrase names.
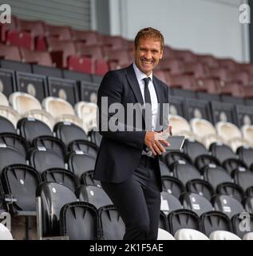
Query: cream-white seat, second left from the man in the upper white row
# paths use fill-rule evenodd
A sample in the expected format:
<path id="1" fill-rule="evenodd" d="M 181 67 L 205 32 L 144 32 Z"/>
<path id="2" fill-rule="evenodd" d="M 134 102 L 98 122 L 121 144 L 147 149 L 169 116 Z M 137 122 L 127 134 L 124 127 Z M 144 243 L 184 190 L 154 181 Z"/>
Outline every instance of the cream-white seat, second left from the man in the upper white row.
<path id="1" fill-rule="evenodd" d="M 64 114 L 75 115 L 73 106 L 62 98 L 46 97 L 42 101 L 44 110 L 50 113 L 53 118 L 58 118 Z"/>

